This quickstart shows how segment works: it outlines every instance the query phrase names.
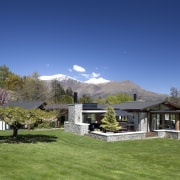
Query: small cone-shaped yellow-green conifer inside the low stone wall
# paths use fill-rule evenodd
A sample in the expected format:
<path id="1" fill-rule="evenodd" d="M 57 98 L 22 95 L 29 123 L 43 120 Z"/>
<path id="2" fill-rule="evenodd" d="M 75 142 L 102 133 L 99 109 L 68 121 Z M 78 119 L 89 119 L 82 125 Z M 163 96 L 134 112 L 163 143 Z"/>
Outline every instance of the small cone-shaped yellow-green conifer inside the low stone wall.
<path id="1" fill-rule="evenodd" d="M 104 118 L 101 120 L 100 127 L 103 128 L 105 132 L 115 132 L 121 128 L 116 120 L 116 113 L 111 105 L 107 106 L 107 112 L 105 113 Z"/>

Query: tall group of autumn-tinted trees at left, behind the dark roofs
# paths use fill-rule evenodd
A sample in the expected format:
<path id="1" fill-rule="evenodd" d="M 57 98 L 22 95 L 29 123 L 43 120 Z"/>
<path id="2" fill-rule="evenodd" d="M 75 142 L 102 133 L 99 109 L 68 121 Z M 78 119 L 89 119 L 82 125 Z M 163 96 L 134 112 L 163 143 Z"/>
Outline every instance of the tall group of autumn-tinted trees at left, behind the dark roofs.
<path id="1" fill-rule="evenodd" d="M 19 101 L 47 101 L 49 103 L 72 103 L 73 91 L 64 89 L 60 82 L 53 81 L 47 84 L 39 80 L 39 75 L 34 72 L 30 76 L 19 76 L 12 73 L 5 65 L 0 66 L 0 99 L 6 96 L 11 100 Z M 5 98 L 3 98 L 5 99 Z M 6 98 L 7 99 L 7 98 Z M 3 104 L 5 100 L 1 100 Z"/>

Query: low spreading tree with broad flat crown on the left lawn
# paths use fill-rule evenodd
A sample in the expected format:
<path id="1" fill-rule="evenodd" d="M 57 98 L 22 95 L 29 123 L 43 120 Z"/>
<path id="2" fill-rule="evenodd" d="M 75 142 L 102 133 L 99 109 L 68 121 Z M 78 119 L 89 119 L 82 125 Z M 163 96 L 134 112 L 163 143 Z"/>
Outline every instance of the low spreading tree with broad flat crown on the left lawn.
<path id="1" fill-rule="evenodd" d="M 0 118 L 13 127 L 13 137 L 17 137 L 19 125 L 31 125 L 38 121 L 55 119 L 57 113 L 40 109 L 25 109 L 21 107 L 0 107 Z"/>

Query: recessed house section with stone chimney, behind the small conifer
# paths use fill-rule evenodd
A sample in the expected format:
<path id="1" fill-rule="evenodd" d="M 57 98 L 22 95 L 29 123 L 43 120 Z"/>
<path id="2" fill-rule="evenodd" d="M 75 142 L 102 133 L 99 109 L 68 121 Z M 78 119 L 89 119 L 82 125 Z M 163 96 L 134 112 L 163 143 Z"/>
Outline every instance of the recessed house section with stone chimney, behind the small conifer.
<path id="1" fill-rule="evenodd" d="M 94 129 L 100 129 L 101 120 L 106 112 L 106 105 L 102 104 L 71 104 L 68 106 L 68 120 L 64 122 L 64 130 L 84 135 Z M 115 112 L 120 126 L 130 130 L 128 125 L 133 123 L 133 114 L 120 109 L 115 109 Z"/>

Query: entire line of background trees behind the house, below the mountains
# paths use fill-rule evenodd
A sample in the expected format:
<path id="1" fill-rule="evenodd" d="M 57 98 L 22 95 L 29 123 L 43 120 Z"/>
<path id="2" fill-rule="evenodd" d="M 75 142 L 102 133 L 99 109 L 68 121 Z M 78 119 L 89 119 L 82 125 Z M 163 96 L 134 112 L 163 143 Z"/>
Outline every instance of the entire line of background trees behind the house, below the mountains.
<path id="1" fill-rule="evenodd" d="M 5 65 L 0 66 L 0 104 L 8 100 L 20 101 L 46 101 L 48 103 L 73 103 L 73 90 L 71 87 L 64 89 L 59 81 L 52 81 L 50 84 L 39 80 L 39 75 L 34 72 L 30 76 L 19 76 L 9 70 Z M 132 101 L 133 98 L 127 94 L 109 95 L 105 98 L 93 99 L 84 94 L 79 97 L 79 103 L 119 104 Z M 170 89 L 171 102 L 180 105 L 180 91 L 172 87 Z"/>

